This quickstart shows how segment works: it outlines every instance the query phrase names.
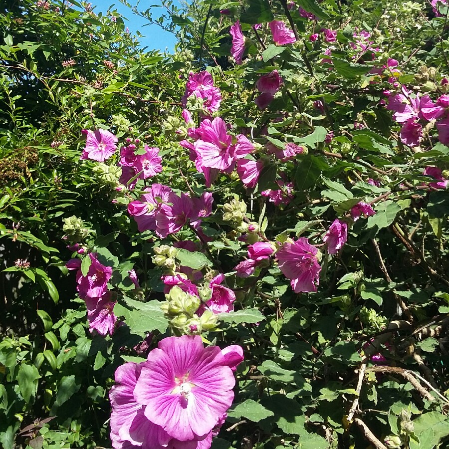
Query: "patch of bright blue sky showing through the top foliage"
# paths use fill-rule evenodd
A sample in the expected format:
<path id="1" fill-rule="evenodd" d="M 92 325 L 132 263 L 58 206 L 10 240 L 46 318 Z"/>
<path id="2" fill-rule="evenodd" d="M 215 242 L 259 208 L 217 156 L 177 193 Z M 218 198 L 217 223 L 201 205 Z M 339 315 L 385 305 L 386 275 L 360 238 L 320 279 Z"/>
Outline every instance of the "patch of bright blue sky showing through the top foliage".
<path id="1" fill-rule="evenodd" d="M 167 49 L 169 53 L 173 52 L 176 39 L 172 33 L 164 31 L 158 25 L 144 26 L 148 23 L 148 20 L 134 14 L 131 8 L 124 5 L 119 0 L 90 0 L 90 2 L 92 3 L 92 6 L 95 6 L 94 10 L 97 14 L 98 12 L 106 13 L 108 9 L 117 9 L 117 11 L 122 14 L 124 18 L 128 19 L 125 20 L 125 25 L 128 26 L 132 34 L 135 34 L 136 31 L 142 33 L 142 37 L 139 39 L 142 47 L 148 46 L 151 50 L 156 49 L 161 51 Z M 129 0 L 129 3 L 134 6 L 136 5 L 137 0 Z M 158 0 L 141 0 L 139 9 L 146 10 L 150 7 L 150 5 L 158 3 Z M 179 1 L 174 1 L 174 4 L 178 7 L 180 6 Z M 114 6 L 110 7 L 111 5 Z M 153 18 L 159 17 L 163 10 L 163 8 L 153 8 Z"/>

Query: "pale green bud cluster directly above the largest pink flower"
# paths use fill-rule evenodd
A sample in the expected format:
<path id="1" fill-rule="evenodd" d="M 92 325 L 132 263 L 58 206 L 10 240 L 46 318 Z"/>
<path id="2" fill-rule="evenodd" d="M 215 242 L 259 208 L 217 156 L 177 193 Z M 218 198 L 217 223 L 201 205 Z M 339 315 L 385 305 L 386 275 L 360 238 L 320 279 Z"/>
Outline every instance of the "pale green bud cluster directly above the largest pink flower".
<path id="1" fill-rule="evenodd" d="M 167 315 L 176 335 L 200 335 L 217 326 L 217 315 L 210 310 L 204 310 L 201 316 L 197 314 L 201 306 L 198 296 L 175 285 L 165 298 L 166 302 L 161 305 L 161 309 Z"/>

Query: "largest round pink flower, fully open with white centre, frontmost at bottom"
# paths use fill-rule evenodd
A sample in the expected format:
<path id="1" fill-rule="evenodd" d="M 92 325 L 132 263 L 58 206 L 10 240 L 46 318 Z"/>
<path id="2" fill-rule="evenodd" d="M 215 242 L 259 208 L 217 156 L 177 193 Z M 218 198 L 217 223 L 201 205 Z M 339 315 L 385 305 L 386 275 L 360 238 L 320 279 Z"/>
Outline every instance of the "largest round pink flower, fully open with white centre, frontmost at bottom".
<path id="1" fill-rule="evenodd" d="M 232 404 L 230 362 L 217 346 L 205 348 L 200 336 L 165 338 L 142 363 L 133 397 L 171 438 L 201 441 Z"/>

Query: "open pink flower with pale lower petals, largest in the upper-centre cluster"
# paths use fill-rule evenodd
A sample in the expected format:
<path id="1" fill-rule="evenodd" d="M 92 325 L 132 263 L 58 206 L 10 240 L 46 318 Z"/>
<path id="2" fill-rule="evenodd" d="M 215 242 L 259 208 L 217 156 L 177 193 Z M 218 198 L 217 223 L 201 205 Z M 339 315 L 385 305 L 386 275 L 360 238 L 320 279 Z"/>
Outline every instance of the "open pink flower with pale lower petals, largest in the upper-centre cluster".
<path id="1" fill-rule="evenodd" d="M 225 121 L 216 117 L 212 122 L 208 119 L 197 128 L 200 140 L 195 142 L 195 151 L 198 158 L 195 164 L 203 169 L 204 167 L 224 170 L 230 167 L 233 162 L 232 139 L 227 134 Z"/>

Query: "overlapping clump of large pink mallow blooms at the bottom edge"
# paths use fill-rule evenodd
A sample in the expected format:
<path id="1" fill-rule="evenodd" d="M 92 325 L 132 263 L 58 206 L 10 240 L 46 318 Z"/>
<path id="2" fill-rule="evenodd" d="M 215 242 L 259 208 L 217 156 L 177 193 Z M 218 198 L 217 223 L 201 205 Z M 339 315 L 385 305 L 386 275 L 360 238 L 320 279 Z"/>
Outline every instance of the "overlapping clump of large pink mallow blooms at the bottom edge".
<path id="1" fill-rule="evenodd" d="M 116 449 L 209 449 L 234 398 L 241 347 L 204 347 L 201 336 L 163 339 L 145 362 L 126 363 L 109 394 Z"/>

